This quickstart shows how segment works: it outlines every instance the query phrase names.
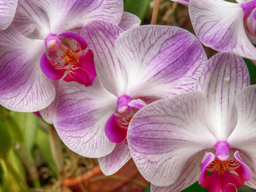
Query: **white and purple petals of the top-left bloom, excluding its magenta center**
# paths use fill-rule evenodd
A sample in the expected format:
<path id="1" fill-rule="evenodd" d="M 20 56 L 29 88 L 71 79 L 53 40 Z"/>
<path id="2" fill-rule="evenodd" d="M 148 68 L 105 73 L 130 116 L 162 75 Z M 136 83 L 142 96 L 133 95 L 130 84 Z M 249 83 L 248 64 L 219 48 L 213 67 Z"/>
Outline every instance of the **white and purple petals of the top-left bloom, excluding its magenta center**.
<path id="1" fill-rule="evenodd" d="M 1 105 L 23 112 L 46 108 L 56 91 L 39 67 L 45 38 L 80 32 L 95 18 L 118 24 L 122 14 L 123 0 L 19 0 L 12 25 L 0 32 Z"/>

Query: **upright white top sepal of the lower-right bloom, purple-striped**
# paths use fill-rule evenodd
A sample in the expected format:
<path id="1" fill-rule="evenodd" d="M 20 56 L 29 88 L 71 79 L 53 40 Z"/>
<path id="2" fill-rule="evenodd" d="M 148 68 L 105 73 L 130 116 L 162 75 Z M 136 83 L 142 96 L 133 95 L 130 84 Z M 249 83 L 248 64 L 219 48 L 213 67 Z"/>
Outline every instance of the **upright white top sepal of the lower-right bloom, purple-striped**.
<path id="1" fill-rule="evenodd" d="M 196 90 L 207 97 L 205 122 L 218 141 L 225 141 L 235 128 L 236 95 L 249 82 L 245 62 L 231 52 L 212 56 L 202 70 Z"/>

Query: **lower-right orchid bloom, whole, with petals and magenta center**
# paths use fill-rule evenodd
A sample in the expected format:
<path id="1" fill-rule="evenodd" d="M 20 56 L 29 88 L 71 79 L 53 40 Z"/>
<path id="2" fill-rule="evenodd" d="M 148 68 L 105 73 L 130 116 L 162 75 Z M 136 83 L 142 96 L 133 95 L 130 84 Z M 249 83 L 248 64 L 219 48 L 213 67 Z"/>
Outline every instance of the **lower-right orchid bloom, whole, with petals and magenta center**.
<path id="1" fill-rule="evenodd" d="M 180 192 L 197 180 L 210 192 L 235 192 L 244 183 L 256 188 L 256 85 L 248 84 L 243 59 L 219 53 L 195 90 L 133 116 L 128 146 L 151 191 Z"/>

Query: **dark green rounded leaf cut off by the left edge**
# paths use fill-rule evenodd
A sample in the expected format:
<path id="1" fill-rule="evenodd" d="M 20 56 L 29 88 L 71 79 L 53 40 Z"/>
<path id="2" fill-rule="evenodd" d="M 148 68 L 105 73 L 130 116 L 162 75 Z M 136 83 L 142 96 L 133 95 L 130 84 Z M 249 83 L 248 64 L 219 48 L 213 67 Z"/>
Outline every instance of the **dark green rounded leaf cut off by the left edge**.
<path id="1" fill-rule="evenodd" d="M 5 123 L 0 121 L 0 158 L 6 156 L 12 146 L 12 137 L 7 127 Z"/>

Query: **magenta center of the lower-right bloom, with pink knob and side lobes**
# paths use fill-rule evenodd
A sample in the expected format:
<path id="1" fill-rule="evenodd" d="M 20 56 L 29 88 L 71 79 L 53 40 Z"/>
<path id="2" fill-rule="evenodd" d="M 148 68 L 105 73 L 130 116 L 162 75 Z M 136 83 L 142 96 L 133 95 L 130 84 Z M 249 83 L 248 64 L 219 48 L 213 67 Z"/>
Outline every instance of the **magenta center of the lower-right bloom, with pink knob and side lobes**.
<path id="1" fill-rule="evenodd" d="M 216 155 L 212 153 L 205 154 L 198 182 L 210 192 L 235 192 L 238 187 L 243 186 L 245 181 L 251 179 L 251 171 L 244 164 L 238 151 L 235 152 L 234 159 L 228 160 L 229 152 L 226 150 L 230 146 L 226 141 L 219 141 L 214 148 Z M 231 173 L 232 171 L 237 174 Z"/>

